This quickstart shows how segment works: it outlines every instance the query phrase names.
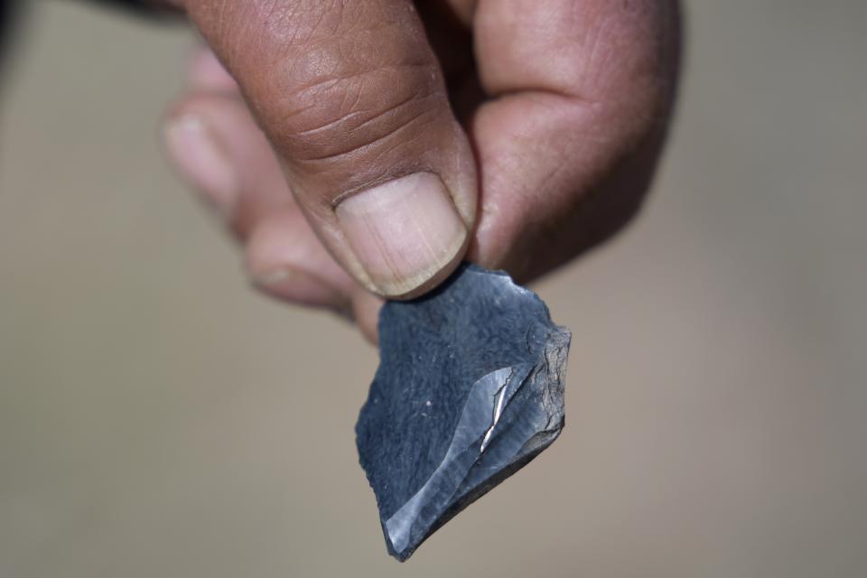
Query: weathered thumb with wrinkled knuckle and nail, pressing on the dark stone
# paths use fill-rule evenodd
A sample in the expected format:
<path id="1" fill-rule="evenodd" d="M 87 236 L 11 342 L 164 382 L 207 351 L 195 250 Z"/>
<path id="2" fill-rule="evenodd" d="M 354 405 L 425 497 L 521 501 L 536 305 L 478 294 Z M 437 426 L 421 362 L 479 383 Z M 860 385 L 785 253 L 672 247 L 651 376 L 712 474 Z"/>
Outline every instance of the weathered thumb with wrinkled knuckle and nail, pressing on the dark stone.
<path id="1" fill-rule="evenodd" d="M 340 265 L 388 297 L 449 275 L 475 220 L 475 163 L 411 0 L 183 4 Z"/>

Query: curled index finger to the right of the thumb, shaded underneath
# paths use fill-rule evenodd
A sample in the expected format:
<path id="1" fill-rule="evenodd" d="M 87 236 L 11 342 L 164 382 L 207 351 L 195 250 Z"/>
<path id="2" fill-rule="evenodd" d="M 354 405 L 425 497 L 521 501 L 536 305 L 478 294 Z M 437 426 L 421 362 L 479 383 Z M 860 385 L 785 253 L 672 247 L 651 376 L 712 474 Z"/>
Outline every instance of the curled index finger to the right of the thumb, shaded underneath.
<path id="1" fill-rule="evenodd" d="M 639 209 L 676 92 L 669 0 L 481 0 L 470 256 L 520 280 L 610 238 Z"/>

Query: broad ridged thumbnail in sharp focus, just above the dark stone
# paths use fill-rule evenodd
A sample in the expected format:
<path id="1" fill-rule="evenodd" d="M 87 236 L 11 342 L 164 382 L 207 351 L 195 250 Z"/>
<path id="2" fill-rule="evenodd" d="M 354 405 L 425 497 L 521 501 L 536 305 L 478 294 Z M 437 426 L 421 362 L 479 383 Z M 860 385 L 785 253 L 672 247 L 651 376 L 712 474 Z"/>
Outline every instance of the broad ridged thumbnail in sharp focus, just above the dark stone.
<path id="1" fill-rule="evenodd" d="M 342 200 L 336 212 L 368 275 L 368 289 L 387 296 L 410 294 L 429 281 L 452 263 L 467 239 L 451 195 L 431 172 L 359 192 Z"/>

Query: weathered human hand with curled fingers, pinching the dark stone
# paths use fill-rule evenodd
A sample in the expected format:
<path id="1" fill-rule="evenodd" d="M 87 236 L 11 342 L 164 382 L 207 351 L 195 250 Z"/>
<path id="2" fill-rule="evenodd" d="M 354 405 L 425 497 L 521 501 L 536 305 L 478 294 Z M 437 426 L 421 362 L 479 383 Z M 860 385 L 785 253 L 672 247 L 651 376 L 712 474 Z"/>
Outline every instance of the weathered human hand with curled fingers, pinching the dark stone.
<path id="1" fill-rule="evenodd" d="M 382 296 L 461 259 L 526 282 L 620 229 L 676 89 L 676 0 L 176 4 L 217 57 L 167 117 L 172 160 L 257 287 L 371 340 Z"/>

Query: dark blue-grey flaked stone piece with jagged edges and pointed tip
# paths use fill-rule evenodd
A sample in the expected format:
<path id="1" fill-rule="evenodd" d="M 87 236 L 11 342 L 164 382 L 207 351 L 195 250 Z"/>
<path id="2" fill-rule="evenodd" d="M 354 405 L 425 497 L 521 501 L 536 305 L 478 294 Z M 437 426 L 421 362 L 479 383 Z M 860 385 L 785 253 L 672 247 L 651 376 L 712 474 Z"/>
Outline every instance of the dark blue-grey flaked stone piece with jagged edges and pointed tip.
<path id="1" fill-rule="evenodd" d="M 469 264 L 386 303 L 356 433 L 391 555 L 405 561 L 554 442 L 570 337 L 536 294 Z"/>

